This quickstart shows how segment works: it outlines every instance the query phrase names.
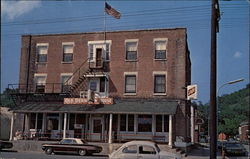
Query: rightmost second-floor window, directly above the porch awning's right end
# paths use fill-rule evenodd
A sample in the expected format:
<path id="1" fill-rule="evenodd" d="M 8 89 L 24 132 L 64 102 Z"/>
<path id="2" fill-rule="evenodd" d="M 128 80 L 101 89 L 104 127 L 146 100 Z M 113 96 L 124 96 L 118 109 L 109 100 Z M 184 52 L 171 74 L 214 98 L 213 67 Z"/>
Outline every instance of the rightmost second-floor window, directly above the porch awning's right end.
<path id="1" fill-rule="evenodd" d="M 166 93 L 166 75 L 155 75 L 154 93 Z"/>

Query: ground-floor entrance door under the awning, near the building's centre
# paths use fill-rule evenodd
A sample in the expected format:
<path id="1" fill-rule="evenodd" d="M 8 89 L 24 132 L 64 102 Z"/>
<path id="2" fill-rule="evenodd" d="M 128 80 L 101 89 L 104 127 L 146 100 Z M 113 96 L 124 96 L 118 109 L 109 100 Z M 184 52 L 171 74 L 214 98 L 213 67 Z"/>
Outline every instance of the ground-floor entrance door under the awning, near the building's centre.
<path id="1" fill-rule="evenodd" d="M 93 118 L 92 119 L 92 137 L 94 141 L 101 141 L 103 134 L 103 119 L 102 118 Z"/>

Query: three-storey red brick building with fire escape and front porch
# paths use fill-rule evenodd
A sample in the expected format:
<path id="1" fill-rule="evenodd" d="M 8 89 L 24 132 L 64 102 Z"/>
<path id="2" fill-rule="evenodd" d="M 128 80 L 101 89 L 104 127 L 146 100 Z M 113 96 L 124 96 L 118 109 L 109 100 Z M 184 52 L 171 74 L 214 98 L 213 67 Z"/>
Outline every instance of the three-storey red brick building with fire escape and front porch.
<path id="1" fill-rule="evenodd" d="M 23 35 L 20 61 L 12 136 L 191 141 L 184 28 Z"/>

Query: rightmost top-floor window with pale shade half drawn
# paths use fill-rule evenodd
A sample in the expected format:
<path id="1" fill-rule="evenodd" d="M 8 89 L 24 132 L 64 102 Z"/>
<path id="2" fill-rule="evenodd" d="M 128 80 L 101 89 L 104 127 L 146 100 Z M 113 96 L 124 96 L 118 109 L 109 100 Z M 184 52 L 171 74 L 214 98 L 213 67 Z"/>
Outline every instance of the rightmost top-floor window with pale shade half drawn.
<path id="1" fill-rule="evenodd" d="M 155 59 L 166 59 L 166 41 L 155 41 Z"/>

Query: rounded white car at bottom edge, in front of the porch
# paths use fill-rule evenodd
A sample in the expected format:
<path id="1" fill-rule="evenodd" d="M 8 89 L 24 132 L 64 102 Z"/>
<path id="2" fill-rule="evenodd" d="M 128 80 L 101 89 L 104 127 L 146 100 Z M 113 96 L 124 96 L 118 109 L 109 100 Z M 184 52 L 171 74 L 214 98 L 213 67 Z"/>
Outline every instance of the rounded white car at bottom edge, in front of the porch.
<path id="1" fill-rule="evenodd" d="M 109 155 L 110 159 L 181 159 L 180 156 L 161 151 L 151 141 L 130 141 Z"/>

